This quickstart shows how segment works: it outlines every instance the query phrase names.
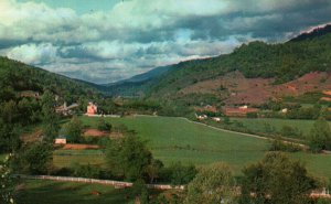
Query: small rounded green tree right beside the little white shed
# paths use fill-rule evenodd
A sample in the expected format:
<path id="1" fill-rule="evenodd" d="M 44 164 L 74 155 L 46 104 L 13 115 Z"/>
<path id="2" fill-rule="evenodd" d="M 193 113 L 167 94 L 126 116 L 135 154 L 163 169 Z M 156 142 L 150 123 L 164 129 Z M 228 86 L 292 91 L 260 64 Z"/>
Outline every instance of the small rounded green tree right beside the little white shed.
<path id="1" fill-rule="evenodd" d="M 64 126 L 64 132 L 70 137 L 71 142 L 79 142 L 82 137 L 83 125 L 79 118 L 74 116 L 70 122 Z"/>

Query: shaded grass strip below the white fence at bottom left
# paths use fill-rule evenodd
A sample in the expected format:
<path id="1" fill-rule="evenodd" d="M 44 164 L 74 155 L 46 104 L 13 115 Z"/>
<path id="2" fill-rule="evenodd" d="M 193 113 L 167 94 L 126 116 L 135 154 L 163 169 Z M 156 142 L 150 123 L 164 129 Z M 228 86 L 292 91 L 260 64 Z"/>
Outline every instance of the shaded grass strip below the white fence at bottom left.
<path id="1" fill-rule="evenodd" d="M 98 192 L 99 195 L 93 192 Z M 134 203 L 129 189 L 115 189 L 109 185 L 26 180 L 20 185 L 15 195 L 17 203 L 22 204 L 108 204 Z"/>

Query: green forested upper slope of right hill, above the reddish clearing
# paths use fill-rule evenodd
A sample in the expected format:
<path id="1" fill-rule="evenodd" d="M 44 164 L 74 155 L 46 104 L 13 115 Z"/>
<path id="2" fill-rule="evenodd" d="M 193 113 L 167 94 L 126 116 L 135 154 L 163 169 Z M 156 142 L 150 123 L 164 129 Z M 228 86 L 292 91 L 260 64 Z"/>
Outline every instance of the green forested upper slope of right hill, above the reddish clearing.
<path id="1" fill-rule="evenodd" d="M 239 71 L 245 77 L 292 80 L 303 74 L 331 68 L 331 34 L 282 44 L 250 42 L 233 53 L 217 57 L 182 62 L 151 88 L 153 95 L 168 95 L 195 84 Z"/>

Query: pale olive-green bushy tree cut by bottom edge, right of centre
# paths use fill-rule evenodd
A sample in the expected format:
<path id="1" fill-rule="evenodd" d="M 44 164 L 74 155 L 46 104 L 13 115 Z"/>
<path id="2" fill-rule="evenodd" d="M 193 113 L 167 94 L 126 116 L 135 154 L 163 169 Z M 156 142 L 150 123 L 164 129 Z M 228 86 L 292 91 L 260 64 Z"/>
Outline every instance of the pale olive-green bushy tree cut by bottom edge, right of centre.
<path id="1" fill-rule="evenodd" d="M 236 195 L 235 180 L 229 167 L 215 163 L 203 168 L 188 185 L 188 204 L 234 203 Z"/>

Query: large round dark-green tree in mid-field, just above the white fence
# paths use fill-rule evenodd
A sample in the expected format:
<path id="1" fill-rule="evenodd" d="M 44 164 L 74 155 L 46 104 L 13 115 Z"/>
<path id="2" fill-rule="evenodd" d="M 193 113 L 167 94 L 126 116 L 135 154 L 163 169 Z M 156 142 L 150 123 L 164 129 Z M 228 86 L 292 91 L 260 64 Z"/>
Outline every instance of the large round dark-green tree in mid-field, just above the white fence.
<path id="1" fill-rule="evenodd" d="M 147 167 L 151 163 L 152 154 L 139 138 L 127 136 L 108 143 L 106 159 L 115 174 L 136 181 L 143 178 Z"/>

